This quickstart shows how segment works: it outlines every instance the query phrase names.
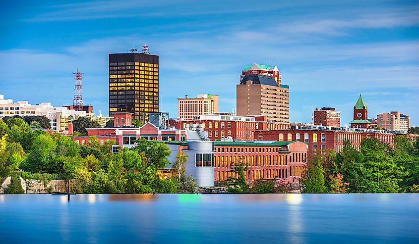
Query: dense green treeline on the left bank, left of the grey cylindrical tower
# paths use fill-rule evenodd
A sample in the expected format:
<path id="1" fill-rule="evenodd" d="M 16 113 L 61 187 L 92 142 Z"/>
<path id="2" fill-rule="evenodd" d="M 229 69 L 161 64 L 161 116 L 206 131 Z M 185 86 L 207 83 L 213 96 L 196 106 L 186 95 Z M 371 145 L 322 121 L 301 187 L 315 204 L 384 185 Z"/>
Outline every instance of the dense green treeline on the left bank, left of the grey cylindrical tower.
<path id="1" fill-rule="evenodd" d="M 138 146 L 112 153 L 115 141 L 100 145 L 95 136 L 87 145 L 71 137 L 32 130 L 21 118 L 0 120 L 0 180 L 12 176 L 7 193 L 21 193 L 24 179 L 70 179 L 74 193 L 177 193 L 194 192 L 196 183 L 180 173 L 164 179 L 158 169 L 166 168 L 170 149 L 144 139 Z M 185 157 L 184 155 L 182 156 Z"/>

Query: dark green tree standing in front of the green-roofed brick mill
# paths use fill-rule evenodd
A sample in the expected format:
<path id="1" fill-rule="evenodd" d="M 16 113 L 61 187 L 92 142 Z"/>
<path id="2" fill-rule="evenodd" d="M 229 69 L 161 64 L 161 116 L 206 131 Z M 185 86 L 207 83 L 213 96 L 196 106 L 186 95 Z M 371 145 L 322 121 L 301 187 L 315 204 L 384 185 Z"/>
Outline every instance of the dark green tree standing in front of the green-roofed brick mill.
<path id="1" fill-rule="evenodd" d="M 243 158 L 239 158 L 239 162 L 234 164 L 230 170 L 233 176 L 226 180 L 228 186 L 227 191 L 231 193 L 246 193 L 249 191 L 249 185 L 247 185 L 244 177 L 245 172 L 249 169 L 247 164 L 243 162 Z"/>

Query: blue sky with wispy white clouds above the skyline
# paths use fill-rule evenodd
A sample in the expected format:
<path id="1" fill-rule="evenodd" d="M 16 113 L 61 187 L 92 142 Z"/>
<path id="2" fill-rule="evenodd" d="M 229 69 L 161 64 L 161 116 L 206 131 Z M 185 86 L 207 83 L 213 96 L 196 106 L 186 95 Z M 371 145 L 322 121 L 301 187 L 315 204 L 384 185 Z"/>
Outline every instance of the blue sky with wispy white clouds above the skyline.
<path id="1" fill-rule="evenodd" d="M 0 94 L 55 106 L 83 100 L 108 114 L 108 54 L 147 44 L 159 55 L 161 110 L 176 98 L 220 96 L 236 106 L 245 65 L 276 64 L 290 86 L 290 120 L 335 107 L 341 126 L 359 97 L 368 117 L 389 111 L 419 125 L 418 0 L 5 1 Z"/>

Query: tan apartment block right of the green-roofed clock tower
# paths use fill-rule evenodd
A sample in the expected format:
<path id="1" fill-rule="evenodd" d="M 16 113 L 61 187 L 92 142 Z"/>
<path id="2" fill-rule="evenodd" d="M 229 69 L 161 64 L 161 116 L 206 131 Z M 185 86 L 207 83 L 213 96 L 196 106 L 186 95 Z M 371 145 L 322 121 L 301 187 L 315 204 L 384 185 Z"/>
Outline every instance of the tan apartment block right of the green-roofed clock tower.
<path id="1" fill-rule="evenodd" d="M 380 113 L 377 115 L 377 126 L 389 131 L 407 132 L 410 127 L 410 117 L 400 111 Z"/>

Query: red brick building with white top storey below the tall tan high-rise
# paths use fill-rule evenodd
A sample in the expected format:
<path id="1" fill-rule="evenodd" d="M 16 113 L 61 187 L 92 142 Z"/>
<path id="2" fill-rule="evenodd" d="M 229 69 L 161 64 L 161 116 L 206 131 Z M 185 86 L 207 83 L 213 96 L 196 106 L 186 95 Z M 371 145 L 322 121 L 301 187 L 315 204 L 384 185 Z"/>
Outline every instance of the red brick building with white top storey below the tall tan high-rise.
<path id="1" fill-rule="evenodd" d="M 268 123 L 266 116 L 234 116 L 231 113 L 218 113 L 212 115 L 201 115 L 196 120 L 171 119 L 169 126 L 176 129 L 199 127 L 201 125 L 204 131 L 208 132 L 208 138 L 211 141 L 221 140 L 232 137 L 233 139 L 242 139 L 251 141 L 257 139 L 254 137 L 256 130 L 279 130 L 290 128 L 289 123 Z"/>

